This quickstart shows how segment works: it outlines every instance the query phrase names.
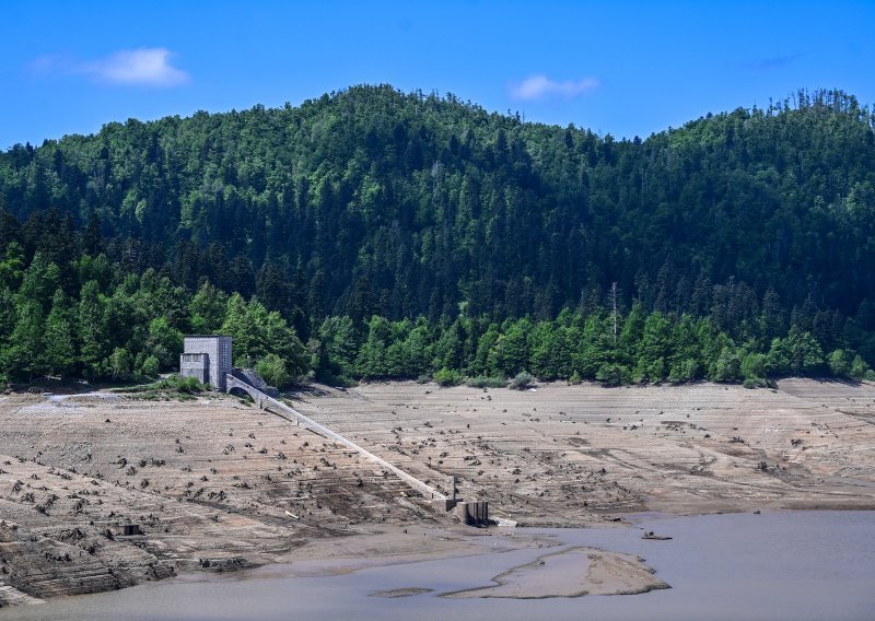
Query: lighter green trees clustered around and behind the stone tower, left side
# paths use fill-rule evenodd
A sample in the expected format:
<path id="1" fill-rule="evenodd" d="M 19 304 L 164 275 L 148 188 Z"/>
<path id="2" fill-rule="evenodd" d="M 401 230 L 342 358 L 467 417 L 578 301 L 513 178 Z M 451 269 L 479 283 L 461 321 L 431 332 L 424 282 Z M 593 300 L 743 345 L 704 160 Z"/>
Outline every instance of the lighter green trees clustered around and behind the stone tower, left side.
<path id="1" fill-rule="evenodd" d="M 14 243 L 8 257 L 15 256 Z M 65 273 L 44 255 L 0 263 L 0 384 L 37 377 L 153 378 L 178 367 L 184 333 L 234 338 L 235 362 L 284 385 L 310 372 L 310 356 L 279 313 L 208 282 L 194 295 L 148 269 L 122 273 L 84 255 Z M 69 274 L 67 274 L 69 276 Z"/>

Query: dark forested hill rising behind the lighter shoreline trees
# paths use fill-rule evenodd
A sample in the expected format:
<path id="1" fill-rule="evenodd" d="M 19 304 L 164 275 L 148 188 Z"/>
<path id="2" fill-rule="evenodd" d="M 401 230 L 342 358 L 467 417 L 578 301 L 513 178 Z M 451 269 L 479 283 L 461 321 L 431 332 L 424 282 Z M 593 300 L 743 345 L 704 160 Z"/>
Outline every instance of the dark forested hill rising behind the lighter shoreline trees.
<path id="1" fill-rule="evenodd" d="M 72 300 L 118 284 L 101 261 L 153 268 L 306 341 L 327 316 L 586 317 L 616 283 L 621 317 L 708 318 L 763 351 L 796 327 L 872 362 L 874 128 L 801 92 L 618 141 L 389 86 L 109 124 L 0 154 L 0 289 L 37 255 Z"/>

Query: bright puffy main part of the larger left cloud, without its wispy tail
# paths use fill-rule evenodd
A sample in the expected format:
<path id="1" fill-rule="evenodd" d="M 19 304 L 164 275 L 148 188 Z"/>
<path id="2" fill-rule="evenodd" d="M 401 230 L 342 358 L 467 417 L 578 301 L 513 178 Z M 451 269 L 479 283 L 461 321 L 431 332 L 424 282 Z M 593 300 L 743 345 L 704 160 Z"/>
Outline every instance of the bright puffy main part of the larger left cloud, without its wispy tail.
<path id="1" fill-rule="evenodd" d="M 77 72 L 114 84 L 176 86 L 188 81 L 188 73 L 171 65 L 173 56 L 164 47 L 122 49 L 107 58 L 83 62 Z"/>

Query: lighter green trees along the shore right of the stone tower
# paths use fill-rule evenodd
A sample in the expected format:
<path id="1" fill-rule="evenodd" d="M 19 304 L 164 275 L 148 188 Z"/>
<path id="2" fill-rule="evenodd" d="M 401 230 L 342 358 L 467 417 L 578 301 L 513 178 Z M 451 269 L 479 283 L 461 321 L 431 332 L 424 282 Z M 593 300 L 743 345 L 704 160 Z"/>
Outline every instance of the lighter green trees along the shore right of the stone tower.
<path id="1" fill-rule="evenodd" d="M 542 380 L 608 386 L 698 379 L 763 386 L 767 378 L 785 375 L 874 378 L 854 351 L 827 352 L 798 325 L 780 336 L 775 327 L 766 314 L 737 340 L 710 317 L 646 313 L 635 304 L 626 316 L 598 308 L 501 324 L 466 316 L 436 325 L 424 317 L 374 316 L 361 331 L 349 317 L 328 317 L 312 345 L 315 368 L 326 380 L 433 377 L 476 385 L 530 373 Z"/>

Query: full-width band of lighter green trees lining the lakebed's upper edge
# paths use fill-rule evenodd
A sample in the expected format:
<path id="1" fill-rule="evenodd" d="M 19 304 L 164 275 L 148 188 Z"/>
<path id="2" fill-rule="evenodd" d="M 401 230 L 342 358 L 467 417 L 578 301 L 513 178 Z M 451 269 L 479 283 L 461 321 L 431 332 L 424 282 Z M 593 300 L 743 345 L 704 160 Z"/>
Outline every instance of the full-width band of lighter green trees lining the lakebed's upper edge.
<path id="1" fill-rule="evenodd" d="M 467 314 L 440 321 L 329 316 L 304 344 L 279 312 L 207 280 L 191 293 L 151 268 L 124 273 L 104 255 L 81 255 L 68 263 L 73 273 L 63 273 L 39 253 L 25 266 L 15 242 L 5 256 L 0 382 L 154 377 L 176 367 L 184 333 L 214 332 L 233 337 L 236 365 L 255 366 L 280 387 L 313 376 L 334 384 L 421 377 L 501 384 L 524 372 L 605 385 L 712 379 L 759 386 L 782 375 L 873 376 L 843 347 L 845 336 L 831 331 L 841 321 L 824 325 L 815 316 L 813 332 L 800 315 L 786 326 L 778 305 L 767 304 L 737 336 L 721 330 L 713 316 L 648 313 L 635 303 L 628 313 L 599 306 L 588 314 L 565 309 L 552 320 L 502 323 Z"/>

